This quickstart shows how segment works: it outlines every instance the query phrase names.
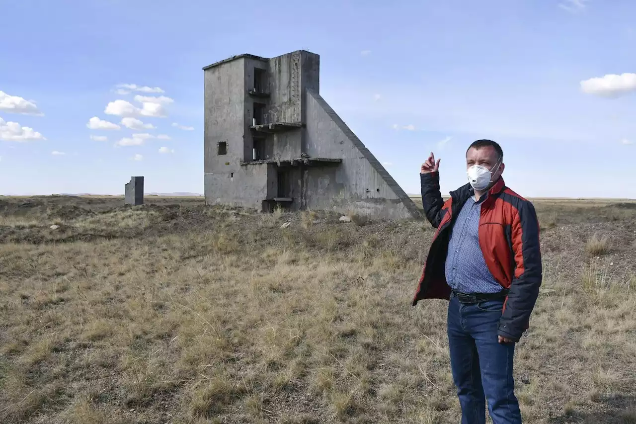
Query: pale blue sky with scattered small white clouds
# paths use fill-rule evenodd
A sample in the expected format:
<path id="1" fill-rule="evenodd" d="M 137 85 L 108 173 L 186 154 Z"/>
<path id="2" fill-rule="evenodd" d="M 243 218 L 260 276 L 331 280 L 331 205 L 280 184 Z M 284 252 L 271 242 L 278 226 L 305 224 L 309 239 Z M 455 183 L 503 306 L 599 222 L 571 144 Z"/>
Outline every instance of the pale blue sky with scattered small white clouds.
<path id="1" fill-rule="evenodd" d="M 0 194 L 121 194 L 132 175 L 202 193 L 202 67 L 306 49 L 408 193 L 431 151 L 443 191 L 464 184 L 467 145 L 490 138 L 526 197 L 636 198 L 630 0 L 0 3 Z"/>

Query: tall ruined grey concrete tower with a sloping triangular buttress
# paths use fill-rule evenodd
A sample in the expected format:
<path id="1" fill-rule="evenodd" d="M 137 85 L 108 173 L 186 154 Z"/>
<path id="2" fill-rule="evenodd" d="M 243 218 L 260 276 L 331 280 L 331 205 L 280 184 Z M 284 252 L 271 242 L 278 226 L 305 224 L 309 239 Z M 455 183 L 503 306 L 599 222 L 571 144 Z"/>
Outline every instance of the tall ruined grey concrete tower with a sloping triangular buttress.
<path id="1" fill-rule="evenodd" d="M 319 95 L 319 64 L 300 50 L 204 67 L 206 203 L 420 216 Z"/>

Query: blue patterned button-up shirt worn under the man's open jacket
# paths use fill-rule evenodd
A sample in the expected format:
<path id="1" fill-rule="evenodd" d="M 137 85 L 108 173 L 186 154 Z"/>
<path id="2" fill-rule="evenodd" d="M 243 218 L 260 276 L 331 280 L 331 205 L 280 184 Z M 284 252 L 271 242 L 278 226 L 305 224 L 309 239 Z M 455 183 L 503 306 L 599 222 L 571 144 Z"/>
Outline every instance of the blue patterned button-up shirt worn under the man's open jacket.
<path id="1" fill-rule="evenodd" d="M 487 196 L 475 201 L 470 197 L 462 207 L 453 225 L 448 255 L 446 256 L 446 282 L 461 293 L 497 293 L 501 284 L 492 276 L 479 244 L 481 204 Z"/>

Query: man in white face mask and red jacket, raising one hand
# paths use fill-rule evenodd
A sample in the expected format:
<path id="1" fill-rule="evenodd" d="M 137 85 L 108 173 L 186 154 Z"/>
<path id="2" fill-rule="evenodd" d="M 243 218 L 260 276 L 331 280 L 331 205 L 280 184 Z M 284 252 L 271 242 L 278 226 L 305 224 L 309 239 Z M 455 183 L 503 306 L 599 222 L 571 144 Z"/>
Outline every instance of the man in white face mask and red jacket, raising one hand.
<path id="1" fill-rule="evenodd" d="M 462 424 L 521 423 L 515 343 L 529 328 L 541 285 L 534 206 L 504 183 L 503 152 L 477 140 L 466 152 L 468 183 L 443 201 L 439 159 L 422 164 L 422 203 L 437 229 L 413 299 L 447 299 L 448 346 Z"/>

